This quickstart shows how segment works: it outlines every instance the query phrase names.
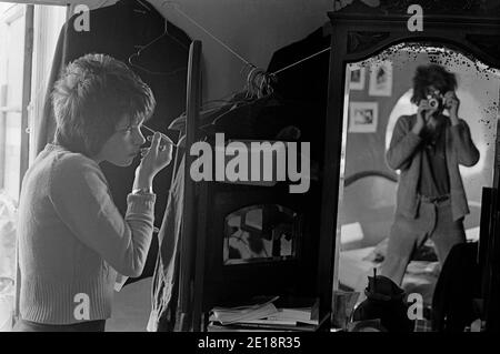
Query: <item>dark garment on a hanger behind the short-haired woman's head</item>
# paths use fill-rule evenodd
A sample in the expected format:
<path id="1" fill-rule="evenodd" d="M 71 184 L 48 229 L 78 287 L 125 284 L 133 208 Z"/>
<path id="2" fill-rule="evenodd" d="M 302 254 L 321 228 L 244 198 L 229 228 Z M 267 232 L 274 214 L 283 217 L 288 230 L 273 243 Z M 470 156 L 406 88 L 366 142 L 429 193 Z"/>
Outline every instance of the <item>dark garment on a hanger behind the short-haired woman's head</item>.
<path id="1" fill-rule="evenodd" d="M 74 23 L 79 13 L 72 16 L 63 26 L 56 48 L 52 69 L 44 98 L 43 114 L 37 135 L 37 153 L 53 139 L 56 122 L 50 92 L 59 79 L 61 70 L 72 60 L 89 52 L 109 54 L 128 63 L 128 59 L 166 30 L 164 18 L 152 7 L 147 11 L 138 1 L 122 0 L 113 6 L 91 10 L 89 31 L 77 30 Z M 186 109 L 186 75 L 191 40 L 179 28 L 167 22 L 168 36 L 163 36 L 154 45 L 134 58 L 132 70 L 151 88 L 157 108 L 148 125 L 167 133 L 169 123 Z M 139 45 L 139 47 L 138 47 Z M 186 70 L 182 70 L 182 68 Z M 144 70 L 147 69 L 147 70 Z M 101 169 L 110 184 L 111 194 L 119 211 L 124 215 L 127 194 L 133 183 L 137 159 L 128 168 L 117 168 L 102 163 Z M 154 179 L 157 222 L 163 219 L 172 169 L 163 169 Z M 157 237 L 153 237 L 148 262 L 142 275 L 136 280 L 151 276 L 158 253 Z M 128 283 L 134 280 L 129 280 Z"/>

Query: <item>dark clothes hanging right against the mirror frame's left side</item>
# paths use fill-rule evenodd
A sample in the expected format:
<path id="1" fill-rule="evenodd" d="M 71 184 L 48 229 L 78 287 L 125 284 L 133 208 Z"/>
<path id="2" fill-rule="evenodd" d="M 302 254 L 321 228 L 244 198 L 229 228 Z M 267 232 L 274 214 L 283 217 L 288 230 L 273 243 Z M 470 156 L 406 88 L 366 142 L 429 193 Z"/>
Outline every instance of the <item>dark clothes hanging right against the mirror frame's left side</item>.
<path id="1" fill-rule="evenodd" d="M 277 50 L 269 62 L 268 72 L 277 72 L 304 58 L 313 55 L 331 43 L 331 36 L 324 36 L 323 27 L 308 34 L 306 38 Z M 334 55 L 334 51 L 332 52 Z M 284 101 L 301 105 L 300 123 L 301 141 L 311 142 L 311 180 L 321 181 L 324 161 L 324 138 L 328 107 L 328 82 L 330 70 L 330 54 L 322 52 L 276 74 L 274 93 Z M 331 119 L 331 118 L 330 118 Z M 311 236 L 310 246 L 318 244 L 321 224 L 322 185 L 311 183 L 309 191 L 302 195 L 302 205 L 308 212 L 307 231 Z M 313 261 L 311 261 L 313 262 Z"/>

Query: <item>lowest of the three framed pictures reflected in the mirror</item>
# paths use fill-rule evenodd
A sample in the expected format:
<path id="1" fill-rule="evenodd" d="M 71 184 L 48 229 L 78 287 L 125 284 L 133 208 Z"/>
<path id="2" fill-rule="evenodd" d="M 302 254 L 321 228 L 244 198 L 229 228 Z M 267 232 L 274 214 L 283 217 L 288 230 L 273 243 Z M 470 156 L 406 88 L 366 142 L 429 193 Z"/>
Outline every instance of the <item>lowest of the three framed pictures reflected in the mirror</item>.
<path id="1" fill-rule="evenodd" d="M 349 103 L 349 132 L 374 133 L 379 120 L 379 105 L 377 102 Z"/>

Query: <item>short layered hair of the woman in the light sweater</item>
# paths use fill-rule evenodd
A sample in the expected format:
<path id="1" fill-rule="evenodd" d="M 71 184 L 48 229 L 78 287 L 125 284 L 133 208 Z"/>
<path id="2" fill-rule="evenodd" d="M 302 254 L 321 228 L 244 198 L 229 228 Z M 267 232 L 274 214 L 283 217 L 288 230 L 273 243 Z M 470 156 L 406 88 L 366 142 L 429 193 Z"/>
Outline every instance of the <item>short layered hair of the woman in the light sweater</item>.
<path id="1" fill-rule="evenodd" d="M 123 62 L 86 54 L 64 69 L 52 91 L 54 142 L 87 156 L 98 154 L 124 118 L 148 120 L 154 111 L 151 89 Z"/>

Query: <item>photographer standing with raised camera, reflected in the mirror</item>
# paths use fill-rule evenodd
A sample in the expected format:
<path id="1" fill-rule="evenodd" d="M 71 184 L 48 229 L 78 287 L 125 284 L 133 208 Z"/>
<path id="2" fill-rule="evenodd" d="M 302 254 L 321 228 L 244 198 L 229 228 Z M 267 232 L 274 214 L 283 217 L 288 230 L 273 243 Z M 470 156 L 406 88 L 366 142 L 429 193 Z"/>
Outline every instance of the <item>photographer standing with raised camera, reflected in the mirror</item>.
<path id="1" fill-rule="evenodd" d="M 479 151 L 459 118 L 457 78 L 438 64 L 421 65 L 413 77 L 413 115 L 399 118 L 387 163 L 400 170 L 394 222 L 381 274 L 401 284 L 414 250 L 428 237 L 441 264 L 451 247 L 466 242 L 469 213 L 459 165 L 472 166 Z M 447 113 L 447 114 L 444 114 Z"/>

